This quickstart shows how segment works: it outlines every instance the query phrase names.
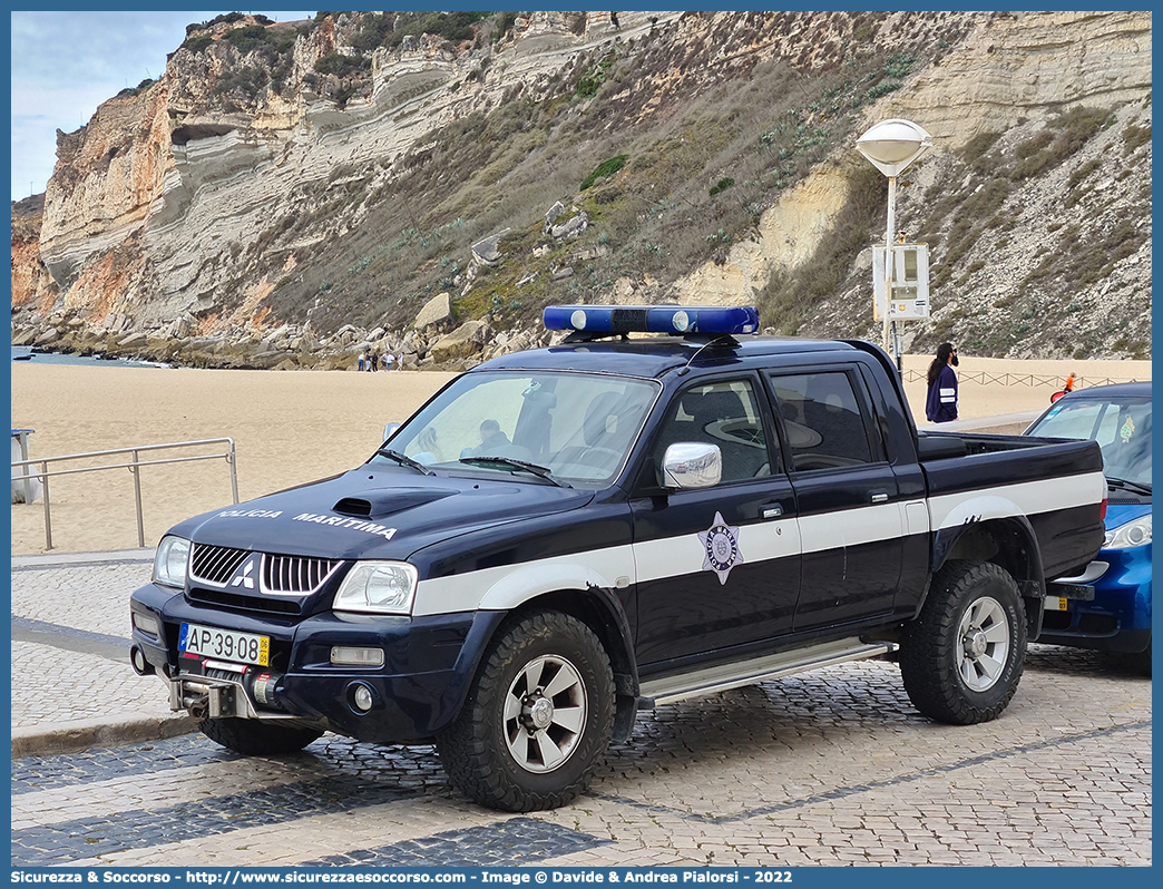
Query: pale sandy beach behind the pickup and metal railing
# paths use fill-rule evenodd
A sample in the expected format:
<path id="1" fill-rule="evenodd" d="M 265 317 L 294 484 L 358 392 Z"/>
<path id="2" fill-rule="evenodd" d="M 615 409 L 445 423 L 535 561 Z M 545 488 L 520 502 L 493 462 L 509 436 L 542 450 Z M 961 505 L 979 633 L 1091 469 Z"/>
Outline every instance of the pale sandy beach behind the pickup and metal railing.
<path id="1" fill-rule="evenodd" d="M 919 426 L 930 356 L 906 356 L 905 391 Z M 1080 385 L 1150 379 L 1149 361 L 1006 361 L 961 356 L 961 417 L 1042 410 L 1068 374 Z M 13 362 L 12 427 L 30 428 L 31 458 L 201 439 L 235 442 L 240 499 L 342 472 L 366 460 L 384 425 L 401 421 L 451 374 L 192 370 Z M 918 379 L 911 379 L 911 377 Z M 223 453 L 164 450 L 143 460 Z M 120 456 L 57 468 L 124 462 Z M 145 546 L 190 515 L 231 503 L 226 460 L 143 467 Z M 53 552 L 137 546 L 128 469 L 50 479 Z M 12 506 L 12 553 L 45 552 L 44 510 Z"/>

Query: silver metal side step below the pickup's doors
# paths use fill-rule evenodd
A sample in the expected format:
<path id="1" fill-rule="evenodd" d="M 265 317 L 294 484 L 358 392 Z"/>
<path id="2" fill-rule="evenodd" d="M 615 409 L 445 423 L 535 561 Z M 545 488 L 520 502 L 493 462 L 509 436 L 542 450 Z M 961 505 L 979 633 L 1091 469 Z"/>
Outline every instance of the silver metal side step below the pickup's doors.
<path id="1" fill-rule="evenodd" d="M 887 654 L 897 648 L 893 642 L 864 642 L 859 639 L 841 639 L 794 652 L 782 652 L 756 657 L 742 663 L 725 663 L 716 667 L 647 680 L 638 688 L 638 709 L 654 710 L 659 704 L 671 704 L 684 698 L 713 695 L 716 691 L 754 685 L 757 682 L 790 676 L 793 673 L 828 667 L 834 663 L 859 661 Z"/>

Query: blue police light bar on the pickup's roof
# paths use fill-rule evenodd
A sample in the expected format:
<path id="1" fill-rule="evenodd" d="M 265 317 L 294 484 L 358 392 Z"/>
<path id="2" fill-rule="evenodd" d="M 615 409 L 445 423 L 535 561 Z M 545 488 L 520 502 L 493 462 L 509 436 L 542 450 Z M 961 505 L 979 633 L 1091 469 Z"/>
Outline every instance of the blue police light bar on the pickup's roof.
<path id="1" fill-rule="evenodd" d="M 744 334 L 759 329 L 754 306 L 547 306 L 548 330 L 593 334 Z"/>

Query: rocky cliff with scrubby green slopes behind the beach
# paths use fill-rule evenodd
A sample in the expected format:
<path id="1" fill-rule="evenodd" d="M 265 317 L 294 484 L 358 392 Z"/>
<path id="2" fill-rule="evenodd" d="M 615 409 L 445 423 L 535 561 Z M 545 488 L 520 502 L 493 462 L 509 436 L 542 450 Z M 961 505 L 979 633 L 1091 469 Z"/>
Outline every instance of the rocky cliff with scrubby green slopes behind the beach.
<path id="1" fill-rule="evenodd" d="M 661 299 L 879 340 L 854 140 L 907 118 L 907 343 L 1150 353 L 1149 13 L 456 15 L 191 26 L 13 204 L 14 341 L 458 367 L 548 301 Z"/>

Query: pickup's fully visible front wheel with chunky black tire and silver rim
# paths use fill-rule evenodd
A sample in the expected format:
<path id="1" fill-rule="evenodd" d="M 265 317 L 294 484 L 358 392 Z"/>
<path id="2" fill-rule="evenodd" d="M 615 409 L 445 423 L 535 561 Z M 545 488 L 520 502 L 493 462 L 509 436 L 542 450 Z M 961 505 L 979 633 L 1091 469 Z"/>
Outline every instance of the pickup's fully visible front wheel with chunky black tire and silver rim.
<path id="1" fill-rule="evenodd" d="M 558 674 L 568 687 L 540 695 L 542 688 L 555 691 Z M 550 723 L 538 728 L 535 718 Z M 461 712 L 436 737 L 436 752 L 452 785 L 480 805 L 556 809 L 588 787 L 613 723 L 614 675 L 598 636 L 577 618 L 537 611 L 498 632 Z M 542 748 L 548 754 L 538 761 Z M 554 764 L 557 755 L 563 759 Z"/>

